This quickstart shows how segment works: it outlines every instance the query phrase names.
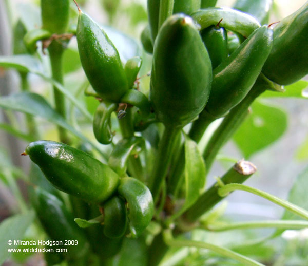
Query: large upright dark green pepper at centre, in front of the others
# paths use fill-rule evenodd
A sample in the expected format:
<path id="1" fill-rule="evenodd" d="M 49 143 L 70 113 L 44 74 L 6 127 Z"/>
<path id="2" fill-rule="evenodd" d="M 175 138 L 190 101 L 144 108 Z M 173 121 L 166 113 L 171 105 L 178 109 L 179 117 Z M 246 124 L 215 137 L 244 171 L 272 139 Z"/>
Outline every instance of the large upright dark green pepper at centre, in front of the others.
<path id="1" fill-rule="evenodd" d="M 176 14 L 165 21 L 152 62 L 150 100 L 158 119 L 186 125 L 204 108 L 212 77 L 209 55 L 189 16 Z"/>

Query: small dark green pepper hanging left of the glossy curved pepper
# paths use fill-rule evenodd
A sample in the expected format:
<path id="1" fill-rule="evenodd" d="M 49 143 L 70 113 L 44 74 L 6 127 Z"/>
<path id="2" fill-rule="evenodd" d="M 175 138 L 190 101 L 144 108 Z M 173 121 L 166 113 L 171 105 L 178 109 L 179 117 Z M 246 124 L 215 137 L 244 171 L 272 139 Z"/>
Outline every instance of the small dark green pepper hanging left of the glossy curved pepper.
<path id="1" fill-rule="evenodd" d="M 126 231 L 125 201 L 114 196 L 104 203 L 104 234 L 109 238 L 122 237 Z"/>

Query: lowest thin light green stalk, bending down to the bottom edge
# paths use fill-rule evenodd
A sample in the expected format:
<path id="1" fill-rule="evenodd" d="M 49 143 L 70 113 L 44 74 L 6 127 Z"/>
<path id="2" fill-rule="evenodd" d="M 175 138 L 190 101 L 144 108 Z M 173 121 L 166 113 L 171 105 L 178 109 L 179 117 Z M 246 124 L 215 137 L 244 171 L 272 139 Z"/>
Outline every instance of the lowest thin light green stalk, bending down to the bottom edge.
<path id="1" fill-rule="evenodd" d="M 245 266 L 264 266 L 264 264 L 261 264 L 255 260 L 252 260 L 248 257 L 245 257 L 239 253 L 236 253 L 232 250 L 228 250 L 225 248 L 222 248 L 221 246 L 213 245 L 210 243 L 204 243 L 200 241 L 194 241 L 194 240 L 188 240 L 188 239 L 174 239 L 172 237 L 172 233 L 170 229 L 167 229 L 163 232 L 164 240 L 167 245 L 169 246 L 175 246 L 178 248 L 182 248 L 185 246 L 191 246 L 193 248 L 201 248 L 201 249 L 207 249 L 210 251 L 213 251 L 217 254 L 220 254 L 227 258 L 235 259 L 239 262 L 242 262 Z"/>

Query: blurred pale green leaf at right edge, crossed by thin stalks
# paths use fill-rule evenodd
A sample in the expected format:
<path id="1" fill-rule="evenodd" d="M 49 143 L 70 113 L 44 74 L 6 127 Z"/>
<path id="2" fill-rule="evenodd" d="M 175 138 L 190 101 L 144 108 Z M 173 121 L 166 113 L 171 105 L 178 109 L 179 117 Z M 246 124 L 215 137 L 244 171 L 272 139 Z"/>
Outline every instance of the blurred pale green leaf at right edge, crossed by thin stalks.
<path id="1" fill-rule="evenodd" d="M 295 182 L 288 194 L 287 201 L 293 204 L 296 204 L 297 206 L 302 207 L 305 210 L 308 210 L 307 187 L 308 187 L 308 167 L 306 167 L 303 170 L 303 172 L 299 174 L 297 178 L 295 179 Z M 298 216 L 294 213 L 284 211 L 281 219 L 282 220 L 295 220 L 295 219 L 301 219 L 301 218 L 298 218 Z M 284 231 L 283 229 L 277 230 L 274 233 L 274 236 L 280 235 L 283 231 Z"/>

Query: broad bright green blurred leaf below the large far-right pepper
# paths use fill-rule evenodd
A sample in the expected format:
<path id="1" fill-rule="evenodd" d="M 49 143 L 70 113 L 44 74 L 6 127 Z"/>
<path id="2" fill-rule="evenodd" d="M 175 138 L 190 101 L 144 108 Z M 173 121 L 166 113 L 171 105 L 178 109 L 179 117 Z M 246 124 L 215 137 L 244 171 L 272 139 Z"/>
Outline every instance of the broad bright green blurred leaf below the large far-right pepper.
<path id="1" fill-rule="evenodd" d="M 233 137 L 245 158 L 278 140 L 287 128 L 287 117 L 281 109 L 260 102 L 253 103 L 251 109 Z"/>

